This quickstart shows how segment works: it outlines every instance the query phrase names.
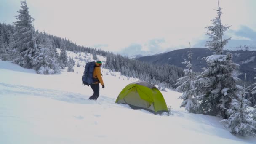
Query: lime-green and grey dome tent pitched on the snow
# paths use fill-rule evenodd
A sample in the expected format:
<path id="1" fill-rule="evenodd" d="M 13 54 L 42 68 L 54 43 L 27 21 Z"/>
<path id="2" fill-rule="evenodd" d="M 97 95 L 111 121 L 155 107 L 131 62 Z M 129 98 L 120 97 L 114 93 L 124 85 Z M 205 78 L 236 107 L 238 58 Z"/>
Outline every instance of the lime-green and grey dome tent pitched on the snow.
<path id="1" fill-rule="evenodd" d="M 162 93 L 145 81 L 133 82 L 125 86 L 115 103 L 128 104 L 133 109 L 146 109 L 150 112 L 168 112 Z"/>

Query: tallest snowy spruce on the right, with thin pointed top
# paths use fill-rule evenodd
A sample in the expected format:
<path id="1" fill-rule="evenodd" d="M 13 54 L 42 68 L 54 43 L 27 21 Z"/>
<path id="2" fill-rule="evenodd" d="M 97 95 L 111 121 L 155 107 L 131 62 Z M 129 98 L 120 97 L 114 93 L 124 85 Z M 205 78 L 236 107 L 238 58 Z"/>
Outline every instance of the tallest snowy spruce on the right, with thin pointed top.
<path id="1" fill-rule="evenodd" d="M 200 103 L 195 108 L 198 110 L 197 113 L 228 119 L 227 109 L 230 109 L 231 98 L 238 93 L 236 87 L 238 78 L 232 73 L 239 68 L 239 65 L 232 62 L 231 53 L 223 54 L 223 48 L 230 40 L 230 38 L 223 39 L 223 36 L 230 26 L 221 23 L 221 10 L 218 3 L 217 16 L 212 20 L 213 25 L 206 27 L 207 35 L 212 39 L 206 42 L 206 46 L 214 53 L 206 57 L 208 67 L 196 77 L 194 85 Z"/>

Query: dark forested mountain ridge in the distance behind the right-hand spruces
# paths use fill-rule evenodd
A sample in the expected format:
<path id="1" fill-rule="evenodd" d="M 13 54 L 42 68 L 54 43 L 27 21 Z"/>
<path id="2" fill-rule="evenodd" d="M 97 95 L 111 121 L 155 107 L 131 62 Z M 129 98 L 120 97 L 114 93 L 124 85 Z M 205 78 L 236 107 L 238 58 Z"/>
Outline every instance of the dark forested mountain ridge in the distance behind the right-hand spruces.
<path id="1" fill-rule="evenodd" d="M 137 58 L 140 61 L 148 61 L 153 64 L 170 64 L 177 67 L 186 68 L 185 64 L 182 64 L 187 60 L 187 54 L 189 48 L 169 51 L 167 53 L 144 56 Z M 203 67 L 207 67 L 204 57 L 212 55 L 213 51 L 208 48 L 191 48 L 192 51 L 192 65 L 195 72 L 202 72 Z M 224 51 L 224 53 L 232 53 L 233 61 L 240 65 L 240 77 L 246 73 L 248 81 L 252 81 L 256 76 L 256 51 Z"/>

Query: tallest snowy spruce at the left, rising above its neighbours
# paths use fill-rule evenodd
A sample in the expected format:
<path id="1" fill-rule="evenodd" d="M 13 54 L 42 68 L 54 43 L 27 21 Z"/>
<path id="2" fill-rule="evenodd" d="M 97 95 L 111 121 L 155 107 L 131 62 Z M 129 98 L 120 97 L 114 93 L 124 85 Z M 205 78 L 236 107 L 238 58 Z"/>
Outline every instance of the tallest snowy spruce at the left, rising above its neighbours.
<path id="1" fill-rule="evenodd" d="M 35 29 L 32 25 L 34 19 L 29 15 L 28 9 L 26 1 L 21 1 L 21 9 L 18 11 L 19 15 L 16 16 L 18 21 L 14 23 L 15 45 L 19 54 L 14 62 L 22 67 L 32 68 L 32 61 L 37 56 L 38 49 Z"/>

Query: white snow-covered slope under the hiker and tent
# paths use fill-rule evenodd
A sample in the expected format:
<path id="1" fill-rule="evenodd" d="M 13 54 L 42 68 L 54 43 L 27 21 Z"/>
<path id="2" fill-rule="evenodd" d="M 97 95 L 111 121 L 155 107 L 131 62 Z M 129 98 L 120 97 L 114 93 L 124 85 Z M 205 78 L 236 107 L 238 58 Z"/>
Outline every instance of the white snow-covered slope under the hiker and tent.
<path id="1" fill-rule="evenodd" d="M 115 104 L 120 91 L 138 79 L 107 69 L 102 69 L 105 88 L 99 99 L 88 100 L 93 91 L 82 85 L 83 64 L 74 69 L 75 73 L 38 75 L 0 61 L 0 144 L 256 143 L 230 134 L 218 117 L 179 108 L 181 93 L 175 91 L 162 91 L 173 108 L 170 116 Z"/>

